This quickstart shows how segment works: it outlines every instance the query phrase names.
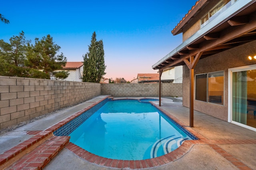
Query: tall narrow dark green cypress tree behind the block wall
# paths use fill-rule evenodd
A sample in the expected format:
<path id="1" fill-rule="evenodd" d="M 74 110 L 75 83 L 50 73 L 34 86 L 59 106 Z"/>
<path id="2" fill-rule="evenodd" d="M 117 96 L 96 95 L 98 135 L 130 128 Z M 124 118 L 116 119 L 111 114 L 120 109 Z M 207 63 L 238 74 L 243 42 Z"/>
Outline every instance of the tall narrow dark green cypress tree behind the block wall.
<path id="1" fill-rule="evenodd" d="M 96 33 L 92 34 L 91 44 L 88 46 L 88 52 L 83 55 L 84 71 L 82 74 L 83 82 L 99 83 L 104 76 L 106 65 L 104 61 L 103 41 L 96 40 Z"/>

